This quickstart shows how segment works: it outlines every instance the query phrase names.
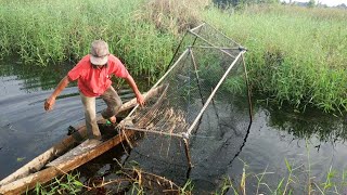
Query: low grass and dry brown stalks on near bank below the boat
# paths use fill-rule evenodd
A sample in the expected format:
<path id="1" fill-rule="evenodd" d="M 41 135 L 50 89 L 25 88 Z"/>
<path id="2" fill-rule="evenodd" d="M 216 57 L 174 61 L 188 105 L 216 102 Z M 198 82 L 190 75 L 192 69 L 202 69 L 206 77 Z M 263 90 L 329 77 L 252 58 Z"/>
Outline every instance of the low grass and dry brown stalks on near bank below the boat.
<path id="1" fill-rule="evenodd" d="M 192 194 L 193 186 L 190 180 L 180 187 L 172 181 L 144 172 L 137 167 L 121 168 L 115 179 L 95 177 L 86 182 L 80 182 L 80 174 L 65 173 L 55 178 L 50 184 L 38 183 L 33 191 L 26 194 Z"/>

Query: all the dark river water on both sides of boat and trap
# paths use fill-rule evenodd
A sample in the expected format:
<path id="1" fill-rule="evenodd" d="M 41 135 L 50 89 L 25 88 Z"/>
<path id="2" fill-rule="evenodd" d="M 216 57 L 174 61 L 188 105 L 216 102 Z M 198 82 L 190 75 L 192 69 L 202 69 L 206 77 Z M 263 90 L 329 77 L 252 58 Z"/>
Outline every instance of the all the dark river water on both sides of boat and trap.
<path id="1" fill-rule="evenodd" d="M 53 110 L 43 109 L 44 100 L 72 67 L 0 63 L 0 179 L 62 140 L 69 126 L 83 122 L 82 105 L 76 86 L 63 91 Z M 273 190 L 287 176 L 287 160 L 293 167 L 299 167 L 294 171 L 298 179 L 304 180 L 296 184 L 298 191 L 304 191 L 308 173 L 311 178 L 314 177 L 312 181 L 322 183 L 332 169 L 340 178 L 337 181 L 342 181 L 343 171 L 347 170 L 347 121 L 344 117 L 313 109 L 298 114 L 291 108 L 278 109 L 261 104 L 264 103 L 254 101 L 250 129 L 237 138 L 242 144 L 223 142 L 218 151 L 213 147 L 204 150 L 204 144 L 210 146 L 206 143 L 211 143 L 206 136 L 203 139 L 204 144 L 193 145 L 193 153 L 200 157 L 193 159 L 194 167 L 191 171 L 188 171 L 185 161 L 172 162 L 175 166 L 170 165 L 170 168 L 167 164 L 155 167 L 149 159 L 150 155 L 139 157 L 151 145 L 150 139 L 140 140 L 139 146 L 130 154 L 119 148 L 112 150 L 79 170 L 83 178 L 88 178 L 114 170 L 115 158 L 136 160 L 147 166 L 147 171 L 167 174 L 169 179 L 174 176 L 172 180 L 179 184 L 187 182 L 188 176 L 198 191 L 215 192 L 226 177 L 237 183 L 245 168 L 248 176 L 247 191 L 256 192 L 258 188 L 259 192 L 269 192 L 266 185 L 256 186 L 258 182 L 254 176 L 267 172 L 264 182 Z M 97 100 L 98 112 L 103 107 L 105 104 Z M 144 145 L 142 148 L 141 144 Z M 171 170 L 172 167 L 176 169 Z"/>

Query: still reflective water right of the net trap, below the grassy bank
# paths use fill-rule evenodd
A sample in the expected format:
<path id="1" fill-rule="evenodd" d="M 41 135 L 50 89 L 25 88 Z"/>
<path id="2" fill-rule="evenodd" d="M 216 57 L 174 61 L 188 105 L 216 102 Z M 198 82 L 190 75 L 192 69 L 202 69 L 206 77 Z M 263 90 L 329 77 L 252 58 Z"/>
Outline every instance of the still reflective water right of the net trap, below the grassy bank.
<path id="1" fill-rule="evenodd" d="M 340 183 L 347 170 L 346 118 L 322 114 L 311 109 L 305 114 L 282 109 L 258 107 L 255 110 L 249 138 L 243 152 L 230 167 L 228 176 L 240 180 L 242 167 L 247 164 L 247 173 L 254 176 L 268 172 L 264 183 L 275 190 L 280 181 L 288 176 L 285 165 L 299 167 L 293 174 L 296 177 L 297 194 L 308 192 L 308 178 L 321 184 L 326 182 L 330 170 L 334 171 L 334 182 Z M 309 176 L 310 174 L 310 176 Z M 248 192 L 256 191 L 256 178 L 249 177 Z M 299 181 L 299 182 L 297 182 Z M 339 191 L 346 193 L 345 190 Z M 259 192 L 269 192 L 260 185 Z M 327 193 L 329 194 L 329 193 Z"/>

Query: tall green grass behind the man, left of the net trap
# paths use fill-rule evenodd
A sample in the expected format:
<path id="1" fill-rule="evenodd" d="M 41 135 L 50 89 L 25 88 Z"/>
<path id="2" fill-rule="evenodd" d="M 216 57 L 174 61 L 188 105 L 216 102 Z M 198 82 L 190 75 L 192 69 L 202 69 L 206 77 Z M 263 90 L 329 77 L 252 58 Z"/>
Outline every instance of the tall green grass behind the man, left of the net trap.
<path id="1" fill-rule="evenodd" d="M 35 0 L 0 3 L 0 53 L 28 64 L 77 62 L 94 39 L 108 42 L 134 75 L 162 73 L 172 56 L 174 35 L 141 18 L 142 0 Z M 152 78 L 153 80 L 153 78 Z"/>

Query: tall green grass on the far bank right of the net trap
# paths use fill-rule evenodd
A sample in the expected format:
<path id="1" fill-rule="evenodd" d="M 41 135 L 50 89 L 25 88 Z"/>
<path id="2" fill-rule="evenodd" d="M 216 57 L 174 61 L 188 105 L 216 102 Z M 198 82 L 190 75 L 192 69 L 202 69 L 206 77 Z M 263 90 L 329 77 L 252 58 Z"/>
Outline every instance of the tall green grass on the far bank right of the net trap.
<path id="1" fill-rule="evenodd" d="M 208 9 L 204 20 L 248 48 L 254 92 L 325 112 L 347 109 L 347 12 L 254 5 L 242 12 Z"/>

